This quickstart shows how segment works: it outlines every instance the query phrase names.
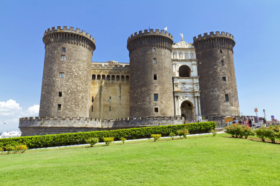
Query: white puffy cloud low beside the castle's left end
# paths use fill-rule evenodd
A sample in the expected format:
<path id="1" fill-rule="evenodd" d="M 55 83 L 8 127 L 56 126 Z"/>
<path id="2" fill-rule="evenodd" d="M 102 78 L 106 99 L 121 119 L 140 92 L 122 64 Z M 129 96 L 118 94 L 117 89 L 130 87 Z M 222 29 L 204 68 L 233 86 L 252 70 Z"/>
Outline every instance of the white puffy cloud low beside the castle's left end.
<path id="1" fill-rule="evenodd" d="M 33 105 L 27 110 L 22 110 L 15 100 L 0 101 L 0 131 L 4 130 L 3 123 L 7 123 L 5 131 L 18 130 L 19 118 L 38 116 L 39 108 L 39 105 Z"/>

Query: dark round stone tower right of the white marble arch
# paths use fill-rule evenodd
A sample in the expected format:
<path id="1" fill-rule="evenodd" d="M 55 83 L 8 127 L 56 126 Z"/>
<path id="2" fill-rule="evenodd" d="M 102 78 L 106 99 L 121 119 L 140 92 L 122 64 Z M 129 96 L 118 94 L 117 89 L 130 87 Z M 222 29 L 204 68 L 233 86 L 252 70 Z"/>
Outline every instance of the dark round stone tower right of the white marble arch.
<path id="1" fill-rule="evenodd" d="M 203 116 L 239 116 L 231 34 L 210 32 L 194 37 Z"/>

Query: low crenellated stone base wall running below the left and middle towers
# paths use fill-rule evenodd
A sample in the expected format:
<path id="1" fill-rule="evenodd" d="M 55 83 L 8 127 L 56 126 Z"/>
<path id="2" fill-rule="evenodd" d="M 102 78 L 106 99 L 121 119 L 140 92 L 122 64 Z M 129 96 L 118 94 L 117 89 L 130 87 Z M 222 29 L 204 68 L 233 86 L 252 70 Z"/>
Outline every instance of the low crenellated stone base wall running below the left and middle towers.
<path id="1" fill-rule="evenodd" d="M 22 136 L 59 134 L 79 131 L 115 130 L 120 128 L 178 125 L 183 124 L 181 117 L 150 116 L 126 117 L 118 119 L 97 119 L 83 117 L 22 117 L 19 128 Z M 55 130 L 52 130 L 55 129 Z"/>

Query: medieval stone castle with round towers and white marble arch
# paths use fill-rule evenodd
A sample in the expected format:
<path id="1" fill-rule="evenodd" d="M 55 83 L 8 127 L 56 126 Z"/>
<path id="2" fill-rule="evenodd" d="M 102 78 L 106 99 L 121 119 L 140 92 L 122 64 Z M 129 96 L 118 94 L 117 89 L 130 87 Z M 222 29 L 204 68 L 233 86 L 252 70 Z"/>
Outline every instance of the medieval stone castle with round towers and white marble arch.
<path id="1" fill-rule="evenodd" d="M 46 30 L 39 117 L 20 118 L 22 135 L 238 116 L 233 36 L 210 32 L 193 40 L 181 34 L 174 43 L 163 30 L 141 30 L 128 37 L 129 64 L 104 63 L 92 62 L 95 39 L 84 30 Z"/>

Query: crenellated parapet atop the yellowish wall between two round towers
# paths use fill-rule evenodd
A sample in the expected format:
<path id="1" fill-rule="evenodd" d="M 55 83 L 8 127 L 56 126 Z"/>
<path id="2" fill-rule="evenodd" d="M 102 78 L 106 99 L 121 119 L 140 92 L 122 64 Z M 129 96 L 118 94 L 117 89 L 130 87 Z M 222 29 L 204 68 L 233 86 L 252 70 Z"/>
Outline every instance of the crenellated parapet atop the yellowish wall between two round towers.
<path id="1" fill-rule="evenodd" d="M 107 61 L 107 62 L 92 62 L 91 69 L 119 69 L 119 70 L 129 70 L 129 63 L 118 63 L 117 61 Z"/>

